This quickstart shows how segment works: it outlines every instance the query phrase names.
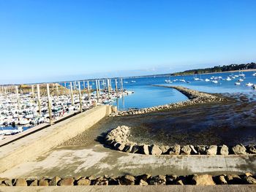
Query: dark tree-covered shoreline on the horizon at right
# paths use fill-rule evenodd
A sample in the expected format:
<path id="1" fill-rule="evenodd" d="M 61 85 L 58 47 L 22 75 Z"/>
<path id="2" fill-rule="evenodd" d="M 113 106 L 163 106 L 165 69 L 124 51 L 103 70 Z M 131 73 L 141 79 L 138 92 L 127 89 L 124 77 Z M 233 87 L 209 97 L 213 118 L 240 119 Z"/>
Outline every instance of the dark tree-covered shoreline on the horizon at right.
<path id="1" fill-rule="evenodd" d="M 244 69 L 256 69 L 255 63 L 249 64 L 230 64 L 227 66 L 214 66 L 211 68 L 205 69 L 190 69 L 184 72 L 177 72 L 171 75 L 184 75 L 184 74 L 203 74 L 203 73 L 214 73 L 214 72 L 229 72 L 229 71 L 236 71 L 236 70 L 244 70 Z"/>

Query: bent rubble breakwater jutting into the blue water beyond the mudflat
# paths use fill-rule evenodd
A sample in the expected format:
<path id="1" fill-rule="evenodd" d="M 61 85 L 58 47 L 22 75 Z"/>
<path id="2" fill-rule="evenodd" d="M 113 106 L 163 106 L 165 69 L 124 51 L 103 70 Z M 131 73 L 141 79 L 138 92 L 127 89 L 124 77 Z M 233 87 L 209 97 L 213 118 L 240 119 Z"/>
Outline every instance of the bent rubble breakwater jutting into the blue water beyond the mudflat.
<path id="1" fill-rule="evenodd" d="M 138 115 L 138 114 L 143 114 L 148 112 L 170 110 L 170 109 L 176 109 L 178 107 L 187 107 L 195 104 L 207 104 L 207 103 L 220 102 L 220 101 L 226 100 L 222 96 L 217 96 L 210 93 L 203 93 L 200 91 L 195 91 L 195 90 L 184 88 L 181 86 L 167 86 L 167 85 L 154 85 L 154 86 L 159 86 L 164 88 L 174 88 L 180 91 L 181 93 L 183 93 L 185 96 L 187 96 L 189 100 L 172 103 L 172 104 L 159 105 L 156 107 L 148 107 L 143 109 L 130 109 L 127 111 L 116 111 L 110 114 L 110 116 L 115 117 L 115 116 L 125 116 L 125 115 Z"/>

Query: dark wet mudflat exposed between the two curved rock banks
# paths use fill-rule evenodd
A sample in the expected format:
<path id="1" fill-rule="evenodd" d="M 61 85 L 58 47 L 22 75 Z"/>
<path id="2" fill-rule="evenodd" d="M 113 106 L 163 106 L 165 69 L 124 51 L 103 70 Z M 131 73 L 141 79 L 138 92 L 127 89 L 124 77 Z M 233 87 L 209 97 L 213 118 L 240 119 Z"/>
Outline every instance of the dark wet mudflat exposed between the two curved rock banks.
<path id="1" fill-rule="evenodd" d="M 105 118 L 63 145 L 97 144 L 108 131 L 121 125 L 132 127 L 129 140 L 149 145 L 255 145 L 255 93 L 225 96 L 230 97 L 225 103 Z"/>

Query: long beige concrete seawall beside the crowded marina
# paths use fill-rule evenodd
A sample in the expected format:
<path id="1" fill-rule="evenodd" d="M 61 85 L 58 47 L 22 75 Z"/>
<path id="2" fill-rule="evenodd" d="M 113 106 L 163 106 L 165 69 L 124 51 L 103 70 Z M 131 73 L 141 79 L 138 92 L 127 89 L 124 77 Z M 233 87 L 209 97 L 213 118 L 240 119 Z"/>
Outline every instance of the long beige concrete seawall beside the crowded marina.
<path id="1" fill-rule="evenodd" d="M 37 158 L 38 155 L 82 133 L 110 113 L 110 106 L 98 106 L 1 147 L 0 172 Z"/>

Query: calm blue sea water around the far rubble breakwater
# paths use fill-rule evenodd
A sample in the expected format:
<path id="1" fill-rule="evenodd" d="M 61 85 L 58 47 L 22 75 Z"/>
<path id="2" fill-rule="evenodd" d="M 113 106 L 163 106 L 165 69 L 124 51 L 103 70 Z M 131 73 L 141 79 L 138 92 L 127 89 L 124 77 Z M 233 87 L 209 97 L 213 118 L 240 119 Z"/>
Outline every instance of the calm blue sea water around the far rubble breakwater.
<path id="1" fill-rule="evenodd" d="M 141 77 L 123 80 L 124 88 L 129 91 L 135 91 L 134 94 L 129 96 L 124 96 L 118 99 L 114 105 L 118 106 L 118 110 L 127 110 L 128 108 L 144 108 L 152 107 L 162 104 L 169 104 L 177 101 L 184 101 L 187 99 L 186 96 L 179 93 L 171 88 L 159 88 L 151 85 L 181 85 L 187 88 L 192 88 L 197 91 L 204 91 L 208 93 L 256 93 L 251 87 L 246 86 L 246 83 L 252 82 L 256 84 L 256 77 L 253 76 L 255 72 L 244 72 L 245 78 L 241 85 L 235 85 L 240 77 L 227 80 L 217 80 L 218 83 L 206 82 L 206 79 L 211 79 L 211 77 L 222 77 L 226 79 L 229 75 L 238 75 L 239 73 L 217 73 L 217 74 L 202 74 L 197 75 L 198 78 L 203 79 L 203 81 L 195 81 L 193 78 L 195 75 L 179 76 L 179 77 Z M 165 80 L 171 80 L 173 83 L 166 83 Z M 177 80 L 174 82 L 174 80 Z M 185 80 L 186 82 L 181 82 L 180 80 Z M 189 81 L 189 83 L 187 83 Z M 112 83 L 112 85 L 114 85 Z"/>

